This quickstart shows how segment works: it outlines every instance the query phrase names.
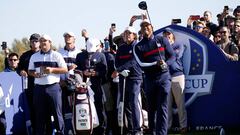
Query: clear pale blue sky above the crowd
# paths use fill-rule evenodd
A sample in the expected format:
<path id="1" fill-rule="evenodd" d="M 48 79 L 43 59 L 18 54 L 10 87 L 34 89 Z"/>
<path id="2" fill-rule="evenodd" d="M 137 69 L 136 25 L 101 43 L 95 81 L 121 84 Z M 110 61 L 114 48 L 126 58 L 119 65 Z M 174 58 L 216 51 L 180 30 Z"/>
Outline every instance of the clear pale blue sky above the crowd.
<path id="1" fill-rule="evenodd" d="M 119 35 L 128 26 L 131 16 L 144 13 L 138 8 L 141 0 L 1 0 L 0 43 L 11 46 L 14 39 L 29 38 L 32 33 L 48 34 L 56 47 L 64 46 L 64 32 L 76 35 L 77 48 L 85 46 L 81 30 L 87 29 L 89 37 L 103 40 L 109 33 L 111 23 L 116 23 Z M 189 15 L 203 15 L 209 10 L 216 15 L 223 7 L 235 9 L 240 0 L 146 0 L 154 29 L 182 19 L 186 26 Z M 140 20 L 134 23 L 139 30 Z"/>

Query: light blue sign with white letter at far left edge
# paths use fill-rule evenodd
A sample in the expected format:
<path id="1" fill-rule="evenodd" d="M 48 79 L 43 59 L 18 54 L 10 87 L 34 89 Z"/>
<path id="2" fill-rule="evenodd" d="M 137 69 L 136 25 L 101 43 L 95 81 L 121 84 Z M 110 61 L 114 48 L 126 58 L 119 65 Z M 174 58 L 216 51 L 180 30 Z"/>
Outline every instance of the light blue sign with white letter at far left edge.
<path id="1" fill-rule="evenodd" d="M 15 72 L 1 72 L 0 85 L 5 102 L 5 116 L 7 122 L 6 134 L 26 135 L 25 93 L 22 92 L 22 79 Z"/>

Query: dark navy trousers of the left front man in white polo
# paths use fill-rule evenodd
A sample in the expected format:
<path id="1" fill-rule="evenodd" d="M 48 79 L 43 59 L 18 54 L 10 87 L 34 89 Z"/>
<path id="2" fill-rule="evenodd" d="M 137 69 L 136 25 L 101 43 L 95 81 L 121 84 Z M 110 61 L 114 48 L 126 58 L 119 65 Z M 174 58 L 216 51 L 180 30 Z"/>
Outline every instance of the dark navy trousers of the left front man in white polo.
<path id="1" fill-rule="evenodd" d="M 52 129 L 57 134 L 64 134 L 62 116 L 62 90 L 58 83 L 52 85 L 36 85 L 33 93 L 35 110 L 35 135 L 50 135 Z M 54 122 L 51 121 L 54 117 Z"/>

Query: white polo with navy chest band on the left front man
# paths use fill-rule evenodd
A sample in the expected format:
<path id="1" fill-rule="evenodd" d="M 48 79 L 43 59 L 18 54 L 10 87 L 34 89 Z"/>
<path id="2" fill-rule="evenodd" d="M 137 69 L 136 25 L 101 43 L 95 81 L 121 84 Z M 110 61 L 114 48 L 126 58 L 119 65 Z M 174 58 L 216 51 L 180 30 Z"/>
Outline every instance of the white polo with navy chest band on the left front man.
<path id="1" fill-rule="evenodd" d="M 28 70 L 40 72 L 40 67 L 64 67 L 67 68 L 62 55 L 56 51 L 42 53 L 41 51 L 33 54 L 30 58 Z M 40 78 L 35 78 L 34 83 L 39 85 L 54 84 L 60 81 L 60 74 L 46 74 Z"/>

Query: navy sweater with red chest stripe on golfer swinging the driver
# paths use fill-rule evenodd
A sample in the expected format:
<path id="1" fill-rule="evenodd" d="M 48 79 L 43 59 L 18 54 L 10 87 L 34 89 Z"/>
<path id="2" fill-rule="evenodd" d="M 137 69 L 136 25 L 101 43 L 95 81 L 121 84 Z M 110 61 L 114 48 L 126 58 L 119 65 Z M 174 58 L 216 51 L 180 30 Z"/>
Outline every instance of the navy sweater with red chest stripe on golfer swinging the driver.
<path id="1" fill-rule="evenodd" d="M 157 61 L 164 60 L 167 65 L 175 61 L 175 53 L 167 38 L 152 36 L 149 39 L 143 38 L 134 47 L 134 56 L 144 70 L 146 76 L 158 76 L 166 70 L 157 65 Z"/>

